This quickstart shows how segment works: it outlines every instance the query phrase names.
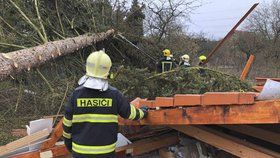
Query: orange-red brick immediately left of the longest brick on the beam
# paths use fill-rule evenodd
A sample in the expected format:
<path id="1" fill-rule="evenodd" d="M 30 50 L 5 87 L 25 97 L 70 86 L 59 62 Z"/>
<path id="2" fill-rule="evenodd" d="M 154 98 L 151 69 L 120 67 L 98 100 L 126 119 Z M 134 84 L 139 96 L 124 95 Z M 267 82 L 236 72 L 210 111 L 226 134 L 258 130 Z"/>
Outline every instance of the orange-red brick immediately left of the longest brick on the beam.
<path id="1" fill-rule="evenodd" d="M 174 106 L 201 105 L 201 98 L 199 94 L 176 94 L 174 96 Z"/>

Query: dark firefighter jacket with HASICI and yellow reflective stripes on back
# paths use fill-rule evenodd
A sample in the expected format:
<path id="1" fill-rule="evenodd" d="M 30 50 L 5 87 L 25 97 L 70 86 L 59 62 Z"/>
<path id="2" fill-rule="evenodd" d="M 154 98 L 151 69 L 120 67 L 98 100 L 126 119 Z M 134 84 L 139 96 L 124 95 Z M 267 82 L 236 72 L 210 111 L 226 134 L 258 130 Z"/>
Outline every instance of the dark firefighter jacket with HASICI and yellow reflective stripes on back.
<path id="1" fill-rule="evenodd" d="M 118 133 L 118 114 L 131 120 L 144 113 L 130 105 L 114 87 L 99 91 L 78 87 L 66 105 L 64 142 L 74 157 L 113 157 Z"/>

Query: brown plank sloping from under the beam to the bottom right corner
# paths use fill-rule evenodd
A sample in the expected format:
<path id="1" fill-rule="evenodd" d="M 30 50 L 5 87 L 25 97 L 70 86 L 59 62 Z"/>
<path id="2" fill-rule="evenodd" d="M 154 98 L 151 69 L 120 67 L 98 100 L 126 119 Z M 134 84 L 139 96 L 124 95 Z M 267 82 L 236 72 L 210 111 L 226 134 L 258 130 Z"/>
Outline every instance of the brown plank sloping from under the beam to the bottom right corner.
<path id="1" fill-rule="evenodd" d="M 280 156 L 279 153 L 275 153 L 271 151 L 269 151 L 269 153 L 267 153 L 268 151 L 266 151 L 265 153 L 264 151 L 261 152 L 255 148 L 249 147 L 247 143 L 246 145 L 244 145 L 242 143 L 243 141 L 235 142 L 233 141 L 233 139 L 237 140 L 237 138 L 233 138 L 231 136 L 219 132 L 212 133 L 205 129 L 201 129 L 194 126 L 171 126 L 171 127 L 191 137 L 194 137 L 200 141 L 203 141 L 207 144 L 215 146 L 219 149 L 222 149 L 226 152 L 229 152 L 239 157 L 272 158 L 275 155 Z"/>

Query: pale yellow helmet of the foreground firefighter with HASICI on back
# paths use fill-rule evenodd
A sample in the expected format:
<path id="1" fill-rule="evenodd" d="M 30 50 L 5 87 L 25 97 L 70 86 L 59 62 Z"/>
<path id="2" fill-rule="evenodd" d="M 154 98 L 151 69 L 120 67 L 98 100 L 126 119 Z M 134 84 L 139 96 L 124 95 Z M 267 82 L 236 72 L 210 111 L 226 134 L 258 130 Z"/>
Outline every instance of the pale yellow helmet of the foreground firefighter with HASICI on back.
<path id="1" fill-rule="evenodd" d="M 93 52 L 87 58 L 86 75 L 107 79 L 111 66 L 112 61 L 104 51 Z"/>

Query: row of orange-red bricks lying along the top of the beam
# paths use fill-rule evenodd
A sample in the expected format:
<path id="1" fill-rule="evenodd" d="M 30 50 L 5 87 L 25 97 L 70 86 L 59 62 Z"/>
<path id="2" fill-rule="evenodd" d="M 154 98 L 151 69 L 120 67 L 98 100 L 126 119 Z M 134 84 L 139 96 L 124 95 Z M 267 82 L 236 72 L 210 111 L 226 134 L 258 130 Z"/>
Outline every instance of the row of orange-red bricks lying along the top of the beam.
<path id="1" fill-rule="evenodd" d="M 201 105 L 243 105 L 253 104 L 254 92 L 207 92 L 199 94 L 176 94 L 174 97 L 156 97 L 155 101 L 139 99 L 134 100 L 136 105 L 146 105 L 151 109 L 156 107 L 184 107 Z"/>

